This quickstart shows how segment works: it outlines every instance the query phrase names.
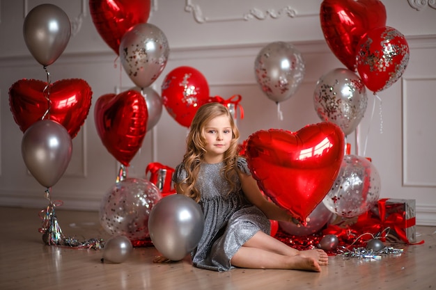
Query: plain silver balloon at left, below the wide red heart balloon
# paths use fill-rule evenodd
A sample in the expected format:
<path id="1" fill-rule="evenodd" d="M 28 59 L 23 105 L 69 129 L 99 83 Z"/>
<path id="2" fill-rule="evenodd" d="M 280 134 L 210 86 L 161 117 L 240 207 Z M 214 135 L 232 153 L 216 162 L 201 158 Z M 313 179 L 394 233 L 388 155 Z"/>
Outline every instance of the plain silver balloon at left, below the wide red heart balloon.
<path id="1" fill-rule="evenodd" d="M 68 168 L 72 140 L 67 129 L 52 120 L 39 120 L 23 135 L 21 152 L 31 175 L 47 188 L 54 186 Z"/>

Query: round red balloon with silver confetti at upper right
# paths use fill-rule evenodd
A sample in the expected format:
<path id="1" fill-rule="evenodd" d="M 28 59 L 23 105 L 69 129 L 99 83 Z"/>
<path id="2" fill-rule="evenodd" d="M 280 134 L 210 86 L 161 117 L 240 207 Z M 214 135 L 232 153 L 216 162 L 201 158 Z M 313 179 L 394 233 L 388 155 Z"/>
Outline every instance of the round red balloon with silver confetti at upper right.
<path id="1" fill-rule="evenodd" d="M 357 47 L 357 72 L 373 92 L 392 86 L 403 75 L 410 51 L 405 36 L 389 27 L 377 27 L 361 38 Z"/>

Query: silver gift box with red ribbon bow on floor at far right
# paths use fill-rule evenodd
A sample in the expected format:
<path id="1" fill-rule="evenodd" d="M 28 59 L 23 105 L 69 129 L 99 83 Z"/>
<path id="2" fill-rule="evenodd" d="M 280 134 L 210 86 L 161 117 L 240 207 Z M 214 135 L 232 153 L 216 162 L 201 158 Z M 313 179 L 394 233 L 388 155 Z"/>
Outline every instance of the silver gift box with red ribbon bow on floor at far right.
<path id="1" fill-rule="evenodd" d="M 378 200 L 372 213 L 380 220 L 380 228 L 389 227 L 387 241 L 416 242 L 416 202 L 395 198 Z"/>

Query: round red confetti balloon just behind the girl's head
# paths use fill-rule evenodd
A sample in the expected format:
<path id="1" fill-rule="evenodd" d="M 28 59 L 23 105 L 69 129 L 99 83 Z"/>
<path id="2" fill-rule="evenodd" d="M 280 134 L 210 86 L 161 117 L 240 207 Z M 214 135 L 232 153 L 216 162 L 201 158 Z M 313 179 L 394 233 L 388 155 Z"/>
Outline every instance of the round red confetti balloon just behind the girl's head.
<path id="1" fill-rule="evenodd" d="M 166 111 L 184 127 L 191 126 L 198 108 L 209 102 L 209 85 L 193 67 L 177 67 L 162 83 L 162 102 Z"/>

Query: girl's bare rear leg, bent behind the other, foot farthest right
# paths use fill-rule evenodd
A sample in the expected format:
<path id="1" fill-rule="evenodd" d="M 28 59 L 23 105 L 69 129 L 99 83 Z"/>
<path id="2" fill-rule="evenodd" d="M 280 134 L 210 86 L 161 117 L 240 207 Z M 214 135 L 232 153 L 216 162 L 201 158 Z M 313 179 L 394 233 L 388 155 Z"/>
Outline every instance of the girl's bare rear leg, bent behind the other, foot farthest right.
<path id="1" fill-rule="evenodd" d="M 282 243 L 281 241 L 275 239 L 269 234 L 265 234 L 264 232 L 257 232 L 254 234 L 251 239 L 249 239 L 246 243 L 244 243 L 243 247 L 249 248 L 258 248 L 268 252 L 274 252 L 280 255 L 286 255 L 289 257 L 293 257 L 295 255 L 304 255 L 306 257 L 313 257 L 318 261 L 318 264 L 324 266 L 328 264 L 329 257 L 327 254 L 320 249 L 317 250 L 304 250 L 299 251 L 291 248 L 290 246 Z"/>

